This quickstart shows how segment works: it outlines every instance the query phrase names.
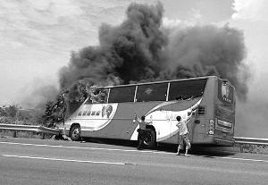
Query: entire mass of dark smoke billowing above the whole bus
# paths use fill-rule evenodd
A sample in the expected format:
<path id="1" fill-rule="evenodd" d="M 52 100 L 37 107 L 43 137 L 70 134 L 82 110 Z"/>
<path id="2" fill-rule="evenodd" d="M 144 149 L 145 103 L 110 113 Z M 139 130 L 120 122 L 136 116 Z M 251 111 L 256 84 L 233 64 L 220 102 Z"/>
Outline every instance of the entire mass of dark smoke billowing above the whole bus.
<path id="1" fill-rule="evenodd" d="M 81 80 L 105 86 L 216 75 L 246 100 L 250 73 L 241 31 L 228 25 L 163 28 L 160 3 L 130 4 L 126 15 L 121 25 L 99 28 L 99 46 L 71 53 L 59 72 L 61 88 L 76 89 Z"/>

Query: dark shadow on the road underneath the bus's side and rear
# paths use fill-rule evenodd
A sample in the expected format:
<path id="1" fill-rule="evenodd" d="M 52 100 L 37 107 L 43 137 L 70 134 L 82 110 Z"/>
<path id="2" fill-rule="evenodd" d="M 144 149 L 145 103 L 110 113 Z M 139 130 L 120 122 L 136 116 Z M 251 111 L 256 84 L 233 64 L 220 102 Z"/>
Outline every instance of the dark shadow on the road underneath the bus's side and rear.
<path id="1" fill-rule="evenodd" d="M 113 146 L 133 147 L 138 146 L 138 141 L 133 140 L 121 140 L 121 139 L 96 139 L 85 138 L 81 142 L 99 143 Z M 174 144 L 158 144 L 155 148 L 149 148 L 154 151 L 176 153 L 178 145 Z M 189 154 L 196 156 L 233 156 L 235 152 L 228 151 L 230 147 L 217 147 L 211 145 L 193 145 L 189 151 Z M 182 151 L 184 152 L 184 151 Z"/>

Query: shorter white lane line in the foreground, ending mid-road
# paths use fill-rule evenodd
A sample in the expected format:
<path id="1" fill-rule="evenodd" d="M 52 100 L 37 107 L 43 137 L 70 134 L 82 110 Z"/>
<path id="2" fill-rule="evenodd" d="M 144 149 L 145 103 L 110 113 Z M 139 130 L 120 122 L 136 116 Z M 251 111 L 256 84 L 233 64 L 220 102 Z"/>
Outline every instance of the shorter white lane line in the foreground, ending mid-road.
<path id="1" fill-rule="evenodd" d="M 49 161 L 89 163 L 89 164 L 117 164 L 117 165 L 124 165 L 124 163 L 116 163 L 116 162 L 84 161 L 84 160 L 74 160 L 74 159 L 47 158 L 47 157 L 40 157 L 40 156 L 13 156 L 13 155 L 2 155 L 2 156 L 16 157 L 16 158 L 28 158 L 28 159 L 40 159 L 40 160 L 49 160 Z"/>

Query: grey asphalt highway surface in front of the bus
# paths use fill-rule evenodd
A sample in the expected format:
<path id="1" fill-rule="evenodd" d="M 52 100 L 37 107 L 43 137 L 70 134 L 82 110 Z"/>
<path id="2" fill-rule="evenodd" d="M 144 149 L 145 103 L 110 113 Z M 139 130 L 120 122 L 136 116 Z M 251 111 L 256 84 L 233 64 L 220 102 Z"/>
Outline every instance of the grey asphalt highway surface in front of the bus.
<path id="1" fill-rule="evenodd" d="M 0 184 L 268 184 L 267 155 L 174 151 L 139 151 L 117 141 L 2 138 Z"/>

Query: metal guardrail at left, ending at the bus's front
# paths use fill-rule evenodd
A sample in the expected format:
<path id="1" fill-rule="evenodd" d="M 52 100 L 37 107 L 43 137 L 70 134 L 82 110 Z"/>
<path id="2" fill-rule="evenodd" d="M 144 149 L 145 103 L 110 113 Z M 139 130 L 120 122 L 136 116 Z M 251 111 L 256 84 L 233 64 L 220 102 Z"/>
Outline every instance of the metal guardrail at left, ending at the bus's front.
<path id="1" fill-rule="evenodd" d="M 16 138 L 17 131 L 33 131 L 43 134 L 43 139 L 45 139 L 45 134 L 60 135 L 62 130 L 51 129 L 43 126 L 34 125 L 19 125 L 19 124 L 0 124 L 0 130 L 13 130 L 13 137 Z"/>

